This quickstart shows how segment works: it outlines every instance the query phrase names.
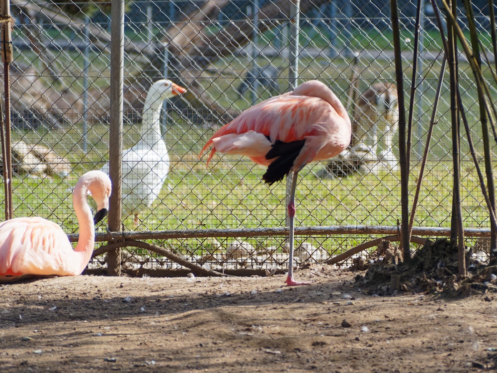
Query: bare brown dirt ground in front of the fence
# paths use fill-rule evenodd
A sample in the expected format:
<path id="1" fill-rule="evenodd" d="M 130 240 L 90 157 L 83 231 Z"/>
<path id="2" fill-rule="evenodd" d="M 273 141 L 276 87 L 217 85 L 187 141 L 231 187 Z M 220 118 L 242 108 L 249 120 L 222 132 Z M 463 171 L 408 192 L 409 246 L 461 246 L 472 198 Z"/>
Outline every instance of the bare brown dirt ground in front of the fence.
<path id="1" fill-rule="evenodd" d="M 312 265 L 297 287 L 283 275 L 0 285 L 1 372 L 496 370 L 495 293 L 378 296 L 357 275 Z"/>

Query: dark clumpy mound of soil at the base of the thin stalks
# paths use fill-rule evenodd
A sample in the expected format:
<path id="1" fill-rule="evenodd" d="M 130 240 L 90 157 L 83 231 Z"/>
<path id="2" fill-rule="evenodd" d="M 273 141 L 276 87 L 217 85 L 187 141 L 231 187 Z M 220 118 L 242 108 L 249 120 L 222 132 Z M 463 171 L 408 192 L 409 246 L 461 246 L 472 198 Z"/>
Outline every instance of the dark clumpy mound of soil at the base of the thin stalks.
<path id="1" fill-rule="evenodd" d="M 441 292 L 447 296 L 497 292 L 493 267 L 466 256 L 468 276 L 458 276 L 458 248 L 448 239 L 426 240 L 409 261 L 399 248 L 384 241 L 366 262 L 356 259 L 352 270 L 366 270 L 355 280 L 370 294 L 389 295 L 401 291 Z"/>

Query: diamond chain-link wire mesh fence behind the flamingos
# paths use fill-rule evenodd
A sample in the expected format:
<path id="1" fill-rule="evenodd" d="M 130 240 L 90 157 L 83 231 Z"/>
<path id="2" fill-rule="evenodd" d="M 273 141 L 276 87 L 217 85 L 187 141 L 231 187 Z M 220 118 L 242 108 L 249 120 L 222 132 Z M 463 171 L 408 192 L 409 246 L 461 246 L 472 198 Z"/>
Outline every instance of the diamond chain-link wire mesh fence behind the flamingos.
<path id="1" fill-rule="evenodd" d="M 488 2 L 474 3 L 484 47 L 489 47 Z M 314 0 L 301 1 L 300 7 L 300 22 L 296 24 L 294 3 L 287 0 L 126 3 L 123 147 L 135 145 L 141 127 L 150 125 L 142 117 L 142 109 L 155 81 L 170 79 L 187 92 L 166 99 L 160 113 L 169 155 L 166 182 L 157 199 L 140 211 L 138 225 L 123 201 L 125 230 L 284 227 L 284 183 L 265 185 L 261 182 L 264 169 L 246 158 L 216 155 L 207 167 L 207 156 L 198 156 L 221 125 L 253 103 L 290 91 L 295 71 L 298 83 L 317 79 L 329 85 L 347 106 L 356 128 L 351 149 L 330 162 L 312 163 L 300 173 L 297 224 L 398 225 L 395 94 L 386 98 L 380 91 L 363 99 L 362 106 L 358 103 L 375 83 L 395 83 L 389 3 Z M 410 77 L 416 5 L 401 2 L 399 11 L 403 66 Z M 11 13 L 16 19 L 10 68 L 14 217 L 42 216 L 61 224 L 68 233 L 77 233 L 72 187 L 83 172 L 106 164 L 109 147 L 115 146 L 108 141 L 110 5 L 100 1 L 12 0 Z M 463 13 L 459 17 L 464 25 Z M 423 5 L 420 45 L 410 200 L 443 58 L 429 2 Z M 490 69 L 484 68 L 490 79 Z M 483 154 L 478 96 L 471 68 L 462 55 L 459 69 L 473 140 Z M 446 77 L 415 226 L 450 227 L 448 86 Z M 495 87 L 491 91 L 495 97 Z M 488 211 L 464 138 L 461 159 L 464 224 L 488 228 Z M 101 225 L 97 230 L 104 232 L 105 228 Z M 372 237 L 371 233 L 302 234 L 297 236 L 300 248 L 296 256 L 301 261 L 322 262 Z M 285 235 L 153 242 L 212 268 L 279 268 L 288 255 Z M 473 244 L 470 238 L 468 246 Z M 123 262 L 132 268 L 177 266 L 160 255 L 133 248 L 126 248 Z M 97 256 L 90 262 L 90 267 L 99 266 L 105 266 L 105 257 Z"/>

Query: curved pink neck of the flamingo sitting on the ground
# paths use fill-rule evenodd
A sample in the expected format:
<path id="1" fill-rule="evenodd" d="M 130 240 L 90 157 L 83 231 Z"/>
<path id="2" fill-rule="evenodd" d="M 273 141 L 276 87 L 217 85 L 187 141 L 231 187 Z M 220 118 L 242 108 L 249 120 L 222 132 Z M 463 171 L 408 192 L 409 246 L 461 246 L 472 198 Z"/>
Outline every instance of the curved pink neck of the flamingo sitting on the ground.
<path id="1" fill-rule="evenodd" d="M 88 188 L 85 185 L 77 184 L 74 188 L 73 206 L 80 226 L 78 244 L 74 249 L 75 255 L 80 258 L 74 263 L 83 264 L 83 268 L 81 268 L 79 273 L 83 272 L 88 264 L 95 244 L 95 226 L 93 224 L 91 209 L 88 205 L 87 194 Z"/>

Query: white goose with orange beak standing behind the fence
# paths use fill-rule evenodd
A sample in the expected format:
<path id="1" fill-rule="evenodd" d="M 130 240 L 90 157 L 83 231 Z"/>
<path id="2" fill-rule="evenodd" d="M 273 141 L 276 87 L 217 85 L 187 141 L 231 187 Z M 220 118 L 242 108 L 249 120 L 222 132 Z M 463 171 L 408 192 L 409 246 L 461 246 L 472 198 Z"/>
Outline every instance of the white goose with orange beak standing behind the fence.
<path id="1" fill-rule="evenodd" d="M 140 212 L 151 206 L 159 195 L 169 171 L 169 156 L 160 128 L 162 104 L 165 99 L 185 91 L 167 79 L 155 82 L 143 106 L 140 140 L 123 153 L 122 208 L 134 215 L 135 226 L 139 223 Z M 108 174 L 109 165 L 102 171 Z"/>

